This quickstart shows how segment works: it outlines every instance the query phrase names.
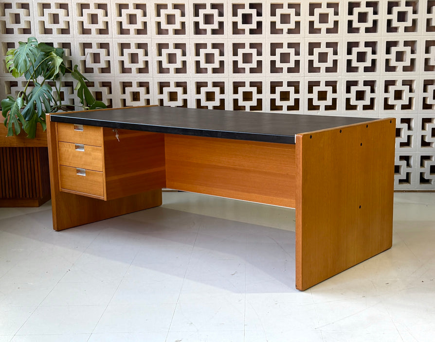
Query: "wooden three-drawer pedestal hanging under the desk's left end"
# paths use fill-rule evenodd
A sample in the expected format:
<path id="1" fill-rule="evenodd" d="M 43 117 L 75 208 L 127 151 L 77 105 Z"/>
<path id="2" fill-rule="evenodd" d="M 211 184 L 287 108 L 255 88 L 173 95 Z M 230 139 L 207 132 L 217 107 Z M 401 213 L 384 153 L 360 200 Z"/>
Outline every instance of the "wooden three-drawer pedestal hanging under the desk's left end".
<path id="1" fill-rule="evenodd" d="M 165 187 L 162 134 L 62 122 L 56 127 L 60 191 L 108 201 Z"/>

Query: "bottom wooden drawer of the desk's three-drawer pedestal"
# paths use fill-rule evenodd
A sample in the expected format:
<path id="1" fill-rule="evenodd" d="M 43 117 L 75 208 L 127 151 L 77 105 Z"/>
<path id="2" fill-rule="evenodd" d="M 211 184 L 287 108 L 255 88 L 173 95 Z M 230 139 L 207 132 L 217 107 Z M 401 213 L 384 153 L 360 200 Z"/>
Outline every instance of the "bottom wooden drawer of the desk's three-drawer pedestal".
<path id="1" fill-rule="evenodd" d="M 103 172 L 61 165 L 60 188 L 104 197 Z"/>

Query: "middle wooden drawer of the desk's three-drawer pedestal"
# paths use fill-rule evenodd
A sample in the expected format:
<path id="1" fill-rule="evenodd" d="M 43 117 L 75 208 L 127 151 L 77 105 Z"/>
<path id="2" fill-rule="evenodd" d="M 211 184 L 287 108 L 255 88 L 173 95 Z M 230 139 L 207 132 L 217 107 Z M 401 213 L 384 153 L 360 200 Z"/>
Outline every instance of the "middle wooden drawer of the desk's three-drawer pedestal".
<path id="1" fill-rule="evenodd" d="M 103 148 L 59 141 L 59 164 L 103 171 Z"/>

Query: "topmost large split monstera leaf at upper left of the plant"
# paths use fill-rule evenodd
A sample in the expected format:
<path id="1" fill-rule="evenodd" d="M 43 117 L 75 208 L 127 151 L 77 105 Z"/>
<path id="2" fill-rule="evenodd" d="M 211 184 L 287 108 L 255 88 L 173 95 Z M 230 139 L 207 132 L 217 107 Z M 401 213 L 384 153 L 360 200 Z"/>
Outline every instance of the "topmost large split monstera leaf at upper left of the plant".
<path id="1" fill-rule="evenodd" d="M 9 53 L 9 51 L 7 53 Z M 19 76 L 21 76 L 35 63 L 39 53 L 38 41 L 35 37 L 29 37 L 27 43 L 18 42 L 18 48 L 11 52 L 14 59 L 12 64 L 9 63 L 8 70 L 11 71 L 13 75 L 15 70 L 15 75 L 19 74 Z M 17 77 L 15 75 L 14 77 Z"/>

